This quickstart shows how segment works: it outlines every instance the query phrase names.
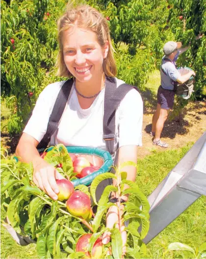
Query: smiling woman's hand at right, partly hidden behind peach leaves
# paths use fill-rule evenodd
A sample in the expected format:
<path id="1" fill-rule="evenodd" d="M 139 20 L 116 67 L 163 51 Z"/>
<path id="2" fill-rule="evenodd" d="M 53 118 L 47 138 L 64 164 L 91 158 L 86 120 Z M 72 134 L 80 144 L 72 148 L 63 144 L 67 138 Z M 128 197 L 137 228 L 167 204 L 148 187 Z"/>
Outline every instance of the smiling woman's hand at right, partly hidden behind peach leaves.
<path id="1" fill-rule="evenodd" d="M 122 217 L 123 209 L 124 209 L 124 205 L 120 205 L 120 218 Z M 119 212 L 118 212 L 118 207 L 116 207 L 116 206 L 109 207 L 109 209 L 106 213 L 106 227 L 109 229 L 112 229 L 114 227 L 114 225 L 118 229 L 120 229 L 120 227 L 121 227 L 122 241 L 123 241 L 122 253 L 123 253 L 123 255 L 125 255 L 126 254 L 127 232 L 125 231 L 125 225 L 122 224 L 121 222 L 119 224 Z M 111 235 L 111 232 L 108 232 L 108 231 L 103 233 L 102 242 L 104 245 L 110 241 L 110 235 Z"/>

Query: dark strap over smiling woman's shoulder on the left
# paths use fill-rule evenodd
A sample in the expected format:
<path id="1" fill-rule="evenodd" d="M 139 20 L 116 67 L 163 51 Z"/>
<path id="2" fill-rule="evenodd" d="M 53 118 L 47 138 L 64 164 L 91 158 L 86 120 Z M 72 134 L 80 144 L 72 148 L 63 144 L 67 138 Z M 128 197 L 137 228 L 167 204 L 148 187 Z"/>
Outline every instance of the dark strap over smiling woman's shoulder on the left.
<path id="1" fill-rule="evenodd" d="M 47 132 L 38 144 L 37 148 L 46 148 L 50 142 L 52 134 L 58 129 L 58 124 L 67 104 L 73 82 L 73 79 L 68 79 L 62 85 L 50 115 Z"/>

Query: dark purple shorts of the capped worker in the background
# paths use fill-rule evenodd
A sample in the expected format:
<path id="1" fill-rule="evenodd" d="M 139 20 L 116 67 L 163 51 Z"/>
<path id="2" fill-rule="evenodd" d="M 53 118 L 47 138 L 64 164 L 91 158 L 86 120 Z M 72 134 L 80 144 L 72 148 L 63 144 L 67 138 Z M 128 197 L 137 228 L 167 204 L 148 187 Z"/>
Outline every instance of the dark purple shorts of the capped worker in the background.
<path id="1" fill-rule="evenodd" d="M 175 92 L 173 90 L 167 90 L 161 87 L 157 91 L 157 104 L 161 105 L 162 109 L 173 109 L 175 101 Z"/>

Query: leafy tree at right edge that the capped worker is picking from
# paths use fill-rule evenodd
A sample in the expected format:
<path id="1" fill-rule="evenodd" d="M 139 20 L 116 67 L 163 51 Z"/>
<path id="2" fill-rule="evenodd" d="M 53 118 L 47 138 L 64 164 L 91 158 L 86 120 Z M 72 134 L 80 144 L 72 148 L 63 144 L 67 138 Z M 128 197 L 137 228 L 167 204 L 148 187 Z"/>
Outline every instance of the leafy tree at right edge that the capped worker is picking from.
<path id="1" fill-rule="evenodd" d="M 179 65 L 191 67 L 195 73 L 195 98 L 202 98 L 206 85 L 206 37 L 195 40 L 199 33 L 206 32 L 206 2 L 202 0 L 169 0 L 170 26 L 176 40 L 191 48 L 179 57 Z M 180 20 L 180 17 L 183 17 Z"/>

